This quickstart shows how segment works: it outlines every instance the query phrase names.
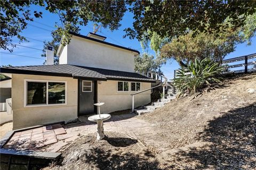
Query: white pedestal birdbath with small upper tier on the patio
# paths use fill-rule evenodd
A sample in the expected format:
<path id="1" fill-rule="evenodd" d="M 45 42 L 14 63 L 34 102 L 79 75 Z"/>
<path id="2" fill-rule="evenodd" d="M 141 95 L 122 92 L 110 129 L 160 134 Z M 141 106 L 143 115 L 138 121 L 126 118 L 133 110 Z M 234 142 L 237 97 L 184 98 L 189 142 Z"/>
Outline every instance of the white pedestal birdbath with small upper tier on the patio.
<path id="1" fill-rule="evenodd" d="M 108 120 L 111 115 L 109 114 L 100 114 L 100 106 L 104 105 L 104 103 L 95 103 L 95 106 L 98 106 L 98 114 L 88 117 L 88 120 L 91 122 L 97 122 L 97 140 L 101 140 L 105 137 L 104 129 L 103 129 L 103 121 Z"/>

